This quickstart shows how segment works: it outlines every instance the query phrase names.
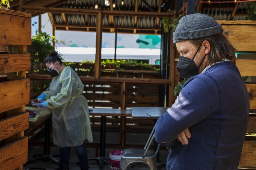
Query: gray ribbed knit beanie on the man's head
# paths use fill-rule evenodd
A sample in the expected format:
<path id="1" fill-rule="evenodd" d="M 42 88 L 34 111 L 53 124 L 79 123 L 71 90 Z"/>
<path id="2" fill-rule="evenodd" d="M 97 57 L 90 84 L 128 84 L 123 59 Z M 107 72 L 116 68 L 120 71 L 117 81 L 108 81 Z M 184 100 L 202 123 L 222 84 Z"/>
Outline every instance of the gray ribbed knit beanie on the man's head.
<path id="1" fill-rule="evenodd" d="M 206 14 L 183 16 L 173 32 L 173 43 L 212 36 L 223 32 L 221 24 Z"/>

